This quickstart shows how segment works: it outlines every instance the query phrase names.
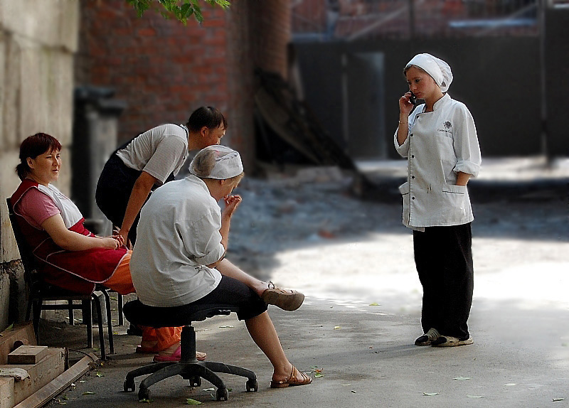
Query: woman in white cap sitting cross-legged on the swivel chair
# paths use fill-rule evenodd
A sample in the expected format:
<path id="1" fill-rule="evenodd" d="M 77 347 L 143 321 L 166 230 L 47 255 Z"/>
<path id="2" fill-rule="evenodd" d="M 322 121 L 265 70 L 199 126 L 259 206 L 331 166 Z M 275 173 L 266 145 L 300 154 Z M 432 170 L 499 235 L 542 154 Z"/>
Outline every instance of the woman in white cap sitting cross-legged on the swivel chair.
<path id="1" fill-rule="evenodd" d="M 243 177 L 238 152 L 206 147 L 191 162 L 190 173 L 157 188 L 142 208 L 131 260 L 139 300 L 168 308 L 172 316 L 191 313 L 194 306 L 238 306 L 238 318 L 272 363 L 271 387 L 309 384 L 312 379 L 287 360 L 267 313 L 267 304 L 295 310 L 304 295 L 275 288 L 224 259 L 230 219 L 241 202 L 230 195 Z"/>

